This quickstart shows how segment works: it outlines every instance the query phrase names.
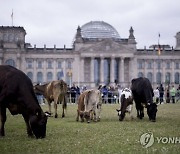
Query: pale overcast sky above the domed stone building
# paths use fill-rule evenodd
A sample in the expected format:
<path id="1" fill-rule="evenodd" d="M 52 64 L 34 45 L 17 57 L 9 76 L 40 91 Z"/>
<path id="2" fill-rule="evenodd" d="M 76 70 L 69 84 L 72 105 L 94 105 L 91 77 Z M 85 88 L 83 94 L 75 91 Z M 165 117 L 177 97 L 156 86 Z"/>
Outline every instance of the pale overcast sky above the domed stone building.
<path id="1" fill-rule="evenodd" d="M 89 21 L 112 25 L 121 38 L 130 26 L 138 48 L 175 46 L 180 31 L 180 0 L 0 0 L 0 25 L 26 30 L 26 42 L 37 47 L 71 47 L 76 29 Z"/>

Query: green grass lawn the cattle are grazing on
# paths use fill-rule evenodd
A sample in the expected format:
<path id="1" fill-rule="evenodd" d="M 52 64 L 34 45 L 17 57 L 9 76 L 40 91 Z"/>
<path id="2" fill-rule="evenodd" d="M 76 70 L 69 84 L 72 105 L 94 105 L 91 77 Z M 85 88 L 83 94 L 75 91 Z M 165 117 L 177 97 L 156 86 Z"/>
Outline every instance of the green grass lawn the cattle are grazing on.
<path id="1" fill-rule="evenodd" d="M 8 112 L 5 125 L 6 136 L 0 138 L 0 153 L 180 153 L 180 143 L 155 143 L 144 148 L 140 144 L 143 133 L 152 132 L 154 137 L 180 138 L 180 103 L 164 104 L 158 107 L 157 122 L 149 122 L 147 114 L 143 120 L 130 120 L 126 115 L 118 121 L 115 111 L 119 105 L 102 106 L 100 122 L 76 122 L 77 105 L 68 105 L 64 119 L 50 117 L 45 139 L 28 138 L 22 116 L 12 116 Z M 47 110 L 47 105 L 42 106 Z"/>

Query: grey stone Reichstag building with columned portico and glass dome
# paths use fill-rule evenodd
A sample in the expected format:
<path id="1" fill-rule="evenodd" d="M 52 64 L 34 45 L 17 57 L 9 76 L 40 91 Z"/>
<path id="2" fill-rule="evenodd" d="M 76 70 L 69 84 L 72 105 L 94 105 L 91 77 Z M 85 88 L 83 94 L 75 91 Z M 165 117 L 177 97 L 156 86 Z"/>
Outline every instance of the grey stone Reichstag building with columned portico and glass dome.
<path id="1" fill-rule="evenodd" d="M 180 32 L 176 46 L 152 45 L 137 49 L 134 30 L 121 38 L 103 21 L 78 26 L 71 48 L 37 48 L 25 41 L 23 27 L 0 27 L 0 65 L 12 65 L 35 83 L 65 80 L 69 85 L 129 86 L 133 78 L 147 77 L 153 86 L 180 84 Z M 172 38 L 173 39 L 173 38 Z"/>

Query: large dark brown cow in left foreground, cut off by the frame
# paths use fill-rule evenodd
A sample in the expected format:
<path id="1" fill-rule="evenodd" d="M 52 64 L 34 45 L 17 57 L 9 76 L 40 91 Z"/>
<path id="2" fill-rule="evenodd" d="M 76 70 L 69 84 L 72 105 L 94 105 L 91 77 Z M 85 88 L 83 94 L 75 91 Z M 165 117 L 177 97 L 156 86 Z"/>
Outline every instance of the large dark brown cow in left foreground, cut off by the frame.
<path id="1" fill-rule="evenodd" d="M 47 116 L 33 91 L 31 80 L 12 66 L 0 66 L 0 136 L 5 136 L 6 108 L 12 115 L 22 114 L 28 136 L 46 136 Z"/>

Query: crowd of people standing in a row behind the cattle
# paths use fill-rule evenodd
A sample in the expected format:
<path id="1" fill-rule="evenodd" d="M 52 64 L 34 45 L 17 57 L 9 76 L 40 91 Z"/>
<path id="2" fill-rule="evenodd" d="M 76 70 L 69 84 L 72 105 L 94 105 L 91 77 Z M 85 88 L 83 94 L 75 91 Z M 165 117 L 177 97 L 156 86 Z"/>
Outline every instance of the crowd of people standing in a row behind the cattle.
<path id="1" fill-rule="evenodd" d="M 120 85 L 116 86 L 107 86 L 107 85 L 99 85 L 98 90 L 101 92 L 102 101 L 104 104 L 115 104 L 120 103 L 120 96 L 123 87 Z M 71 87 L 68 85 L 68 102 L 77 103 L 79 95 L 87 90 L 86 85 L 79 87 L 73 84 Z M 174 85 L 168 85 L 167 87 L 163 87 L 161 84 L 159 87 L 156 87 L 154 90 L 154 101 L 156 104 L 164 104 L 164 103 L 177 103 L 180 101 L 180 85 L 177 89 L 175 89 Z M 39 102 L 42 104 L 45 103 L 42 95 L 38 95 L 37 98 Z"/>

